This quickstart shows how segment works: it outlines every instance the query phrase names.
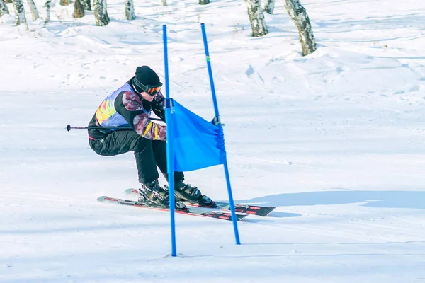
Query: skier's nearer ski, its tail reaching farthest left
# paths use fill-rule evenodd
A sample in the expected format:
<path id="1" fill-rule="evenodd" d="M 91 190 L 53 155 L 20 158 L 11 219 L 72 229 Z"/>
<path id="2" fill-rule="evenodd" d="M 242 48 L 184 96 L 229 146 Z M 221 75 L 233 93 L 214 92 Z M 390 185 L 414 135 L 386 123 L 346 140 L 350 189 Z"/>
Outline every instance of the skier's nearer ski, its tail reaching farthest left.
<path id="1" fill-rule="evenodd" d="M 169 211 L 169 208 L 161 207 L 161 206 L 153 206 L 150 204 L 139 204 L 137 201 L 134 200 L 124 200 L 120 198 L 115 197 L 98 197 L 98 202 L 107 202 L 107 203 L 113 203 L 113 204 L 123 204 L 128 205 L 132 207 L 142 207 L 147 209 L 156 209 L 156 210 L 162 210 L 162 211 Z M 223 219 L 223 220 L 232 220 L 232 214 L 227 212 L 214 212 L 209 209 L 191 209 L 186 207 L 183 210 L 176 209 L 176 213 L 178 214 L 187 214 L 187 215 L 194 215 L 194 216 L 203 216 L 203 217 L 212 217 L 216 219 Z M 244 217 L 248 216 L 248 214 L 236 214 L 237 221 L 244 219 Z"/>

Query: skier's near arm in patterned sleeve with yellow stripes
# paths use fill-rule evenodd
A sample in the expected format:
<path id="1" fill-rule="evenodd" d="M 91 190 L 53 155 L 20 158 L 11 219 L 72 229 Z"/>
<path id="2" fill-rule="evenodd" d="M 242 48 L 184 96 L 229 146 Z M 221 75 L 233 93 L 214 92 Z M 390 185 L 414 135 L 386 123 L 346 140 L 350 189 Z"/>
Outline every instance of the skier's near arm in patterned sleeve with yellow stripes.
<path id="1" fill-rule="evenodd" d="M 115 100 L 115 109 L 137 134 L 146 139 L 165 141 L 166 127 L 149 119 L 149 113 L 145 112 L 140 97 L 130 91 L 126 91 L 122 96 L 122 99 L 118 97 Z"/>

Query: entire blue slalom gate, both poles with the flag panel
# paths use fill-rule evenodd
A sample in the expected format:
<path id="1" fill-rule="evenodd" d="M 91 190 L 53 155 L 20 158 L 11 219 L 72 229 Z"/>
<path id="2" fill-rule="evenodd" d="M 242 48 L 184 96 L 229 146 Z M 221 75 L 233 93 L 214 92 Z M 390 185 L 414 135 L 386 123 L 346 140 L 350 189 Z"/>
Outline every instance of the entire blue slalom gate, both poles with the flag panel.
<path id="1" fill-rule="evenodd" d="M 227 166 L 227 156 L 225 150 L 225 138 L 220 114 L 218 112 L 217 98 L 215 96 L 214 81 L 212 79 L 212 69 L 210 53 L 208 52 L 207 33 L 205 25 L 200 24 L 203 35 L 205 58 L 207 60 L 208 75 L 210 76 L 210 86 L 212 92 L 212 102 L 214 103 L 215 118 L 214 124 L 204 120 L 195 113 L 184 108 L 170 98 L 169 93 L 169 71 L 168 71 L 168 47 L 166 37 L 166 25 L 162 25 L 164 40 L 164 67 L 166 86 L 166 167 L 169 172 L 169 201 L 174 204 L 174 174 L 175 171 L 193 171 L 200 168 L 223 164 L 229 193 L 230 212 L 234 229 L 236 244 L 240 245 L 239 231 L 237 229 L 237 216 L 234 209 L 232 187 L 230 185 L 229 167 Z M 174 219 L 174 205 L 170 206 L 171 219 L 171 256 L 177 256 L 176 250 L 176 222 Z"/>

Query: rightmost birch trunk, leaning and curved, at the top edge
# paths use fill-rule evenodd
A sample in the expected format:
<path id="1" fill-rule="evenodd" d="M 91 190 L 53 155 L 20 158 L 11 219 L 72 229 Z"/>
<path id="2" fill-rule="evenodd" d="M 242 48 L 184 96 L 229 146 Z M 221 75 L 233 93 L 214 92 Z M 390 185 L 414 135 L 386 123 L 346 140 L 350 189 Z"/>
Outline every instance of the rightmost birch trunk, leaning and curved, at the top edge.
<path id="1" fill-rule="evenodd" d="M 312 54 L 312 52 L 316 51 L 316 41 L 314 40 L 312 24 L 305 8 L 300 4 L 299 0 L 285 0 L 285 8 L 290 18 L 297 25 L 298 33 L 300 33 L 302 56 Z"/>

